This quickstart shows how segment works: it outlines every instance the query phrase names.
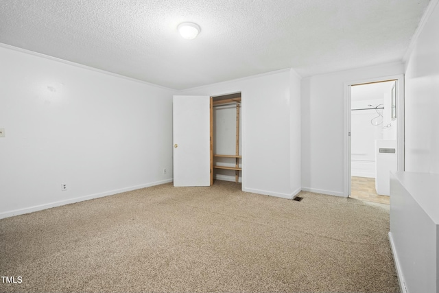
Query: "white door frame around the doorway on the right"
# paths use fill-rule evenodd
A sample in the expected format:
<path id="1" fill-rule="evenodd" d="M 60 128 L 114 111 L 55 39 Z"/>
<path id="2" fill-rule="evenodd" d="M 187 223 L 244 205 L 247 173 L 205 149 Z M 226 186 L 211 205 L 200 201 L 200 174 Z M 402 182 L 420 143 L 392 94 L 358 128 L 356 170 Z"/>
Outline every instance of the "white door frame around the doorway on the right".
<path id="1" fill-rule="evenodd" d="M 396 81 L 396 171 L 405 170 L 404 75 L 355 80 L 344 83 L 344 196 L 351 196 L 351 86 Z"/>

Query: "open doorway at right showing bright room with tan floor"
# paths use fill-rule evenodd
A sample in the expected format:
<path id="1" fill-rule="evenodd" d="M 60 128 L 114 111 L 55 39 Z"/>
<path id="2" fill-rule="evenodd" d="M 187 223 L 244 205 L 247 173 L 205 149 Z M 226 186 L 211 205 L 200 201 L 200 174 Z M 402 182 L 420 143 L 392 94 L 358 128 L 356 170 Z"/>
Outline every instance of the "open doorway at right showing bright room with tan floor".
<path id="1" fill-rule="evenodd" d="M 403 114 L 398 115 L 403 110 L 401 80 L 395 77 L 347 86 L 351 198 L 390 203 L 389 174 L 403 168 Z"/>

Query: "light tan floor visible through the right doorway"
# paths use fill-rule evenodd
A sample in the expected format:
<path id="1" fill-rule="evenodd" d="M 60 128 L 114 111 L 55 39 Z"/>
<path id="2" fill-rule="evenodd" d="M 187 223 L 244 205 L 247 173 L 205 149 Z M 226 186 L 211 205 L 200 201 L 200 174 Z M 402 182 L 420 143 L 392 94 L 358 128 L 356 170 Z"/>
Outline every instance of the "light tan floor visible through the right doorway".
<path id="1" fill-rule="evenodd" d="M 351 198 L 390 204 L 390 196 L 379 196 L 375 190 L 375 178 L 351 177 Z"/>

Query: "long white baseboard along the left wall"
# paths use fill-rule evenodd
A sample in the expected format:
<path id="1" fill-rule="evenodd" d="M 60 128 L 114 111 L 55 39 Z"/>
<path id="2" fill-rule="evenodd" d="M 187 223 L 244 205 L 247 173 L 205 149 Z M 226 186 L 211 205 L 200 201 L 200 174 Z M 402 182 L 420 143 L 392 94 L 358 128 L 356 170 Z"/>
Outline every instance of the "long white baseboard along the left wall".
<path id="1" fill-rule="evenodd" d="M 43 209 L 50 209 L 52 207 L 60 207 L 60 206 L 65 205 L 65 204 L 73 204 L 75 202 L 83 202 L 84 200 L 93 200 L 95 198 L 103 198 L 105 196 L 112 196 L 115 194 L 121 194 L 122 192 L 132 191 L 132 190 L 141 189 L 141 188 L 145 188 L 145 187 L 152 187 L 155 185 L 170 183 L 172 181 L 173 181 L 173 179 L 171 178 L 171 179 L 156 181 L 156 182 L 152 182 L 152 183 L 135 185 L 132 187 L 126 187 L 126 188 L 121 188 L 121 189 L 114 189 L 114 190 L 110 190 L 110 191 L 105 191 L 105 192 L 102 192 L 99 194 L 90 194 L 88 196 L 80 196 L 78 198 L 70 198 L 68 200 L 60 200 L 58 202 L 49 202 L 47 204 L 39 204 L 39 205 L 36 205 L 33 207 L 16 209 L 13 211 L 5 211 L 3 213 L 0 213 L 0 219 L 9 218 L 9 217 L 12 217 L 14 215 L 23 215 L 25 213 L 33 213 L 34 211 L 42 211 Z"/>

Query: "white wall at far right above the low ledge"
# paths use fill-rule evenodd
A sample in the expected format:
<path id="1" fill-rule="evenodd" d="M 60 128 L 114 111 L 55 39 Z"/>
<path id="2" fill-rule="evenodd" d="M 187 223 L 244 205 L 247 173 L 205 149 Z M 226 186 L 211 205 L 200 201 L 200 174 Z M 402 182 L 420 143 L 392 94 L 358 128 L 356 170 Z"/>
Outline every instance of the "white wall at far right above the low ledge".
<path id="1" fill-rule="evenodd" d="M 439 174 L 439 6 L 433 3 L 406 64 L 405 170 Z"/>

